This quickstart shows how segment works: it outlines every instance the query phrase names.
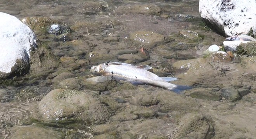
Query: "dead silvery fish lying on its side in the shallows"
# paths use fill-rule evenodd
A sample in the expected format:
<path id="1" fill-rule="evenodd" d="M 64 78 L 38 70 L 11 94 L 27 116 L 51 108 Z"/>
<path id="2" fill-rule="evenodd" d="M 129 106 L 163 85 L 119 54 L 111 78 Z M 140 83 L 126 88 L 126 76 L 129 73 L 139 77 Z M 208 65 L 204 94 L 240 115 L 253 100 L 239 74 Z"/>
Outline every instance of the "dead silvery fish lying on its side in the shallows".
<path id="1" fill-rule="evenodd" d="M 182 90 L 191 89 L 190 86 L 168 83 L 168 81 L 177 80 L 177 78 L 159 77 L 146 70 L 149 68 L 150 66 L 148 65 L 134 66 L 127 63 L 110 62 L 99 64 L 98 66 L 92 66 L 90 72 L 98 76 L 111 76 L 115 80 L 127 80 L 132 84 L 150 84 L 160 86 L 176 93 L 180 93 Z"/>

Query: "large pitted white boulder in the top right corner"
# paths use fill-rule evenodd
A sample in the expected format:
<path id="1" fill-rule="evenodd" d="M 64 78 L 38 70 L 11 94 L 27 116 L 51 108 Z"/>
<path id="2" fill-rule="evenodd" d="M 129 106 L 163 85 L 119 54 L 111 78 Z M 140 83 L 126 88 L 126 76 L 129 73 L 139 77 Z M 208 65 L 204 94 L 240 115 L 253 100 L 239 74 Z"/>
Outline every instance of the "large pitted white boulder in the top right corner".
<path id="1" fill-rule="evenodd" d="M 255 0 L 200 0 L 199 12 L 206 24 L 226 36 L 253 29 L 256 34 Z"/>

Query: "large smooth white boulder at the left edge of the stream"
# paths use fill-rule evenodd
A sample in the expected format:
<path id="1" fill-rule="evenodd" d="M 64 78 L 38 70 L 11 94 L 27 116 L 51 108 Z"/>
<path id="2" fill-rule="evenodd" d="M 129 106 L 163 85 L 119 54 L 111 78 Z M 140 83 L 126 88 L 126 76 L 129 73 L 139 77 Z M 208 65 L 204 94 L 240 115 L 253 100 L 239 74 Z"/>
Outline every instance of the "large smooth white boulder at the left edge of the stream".
<path id="1" fill-rule="evenodd" d="M 10 73 L 17 59 L 29 62 L 29 51 L 36 47 L 34 32 L 16 17 L 0 12 L 0 71 Z"/>

